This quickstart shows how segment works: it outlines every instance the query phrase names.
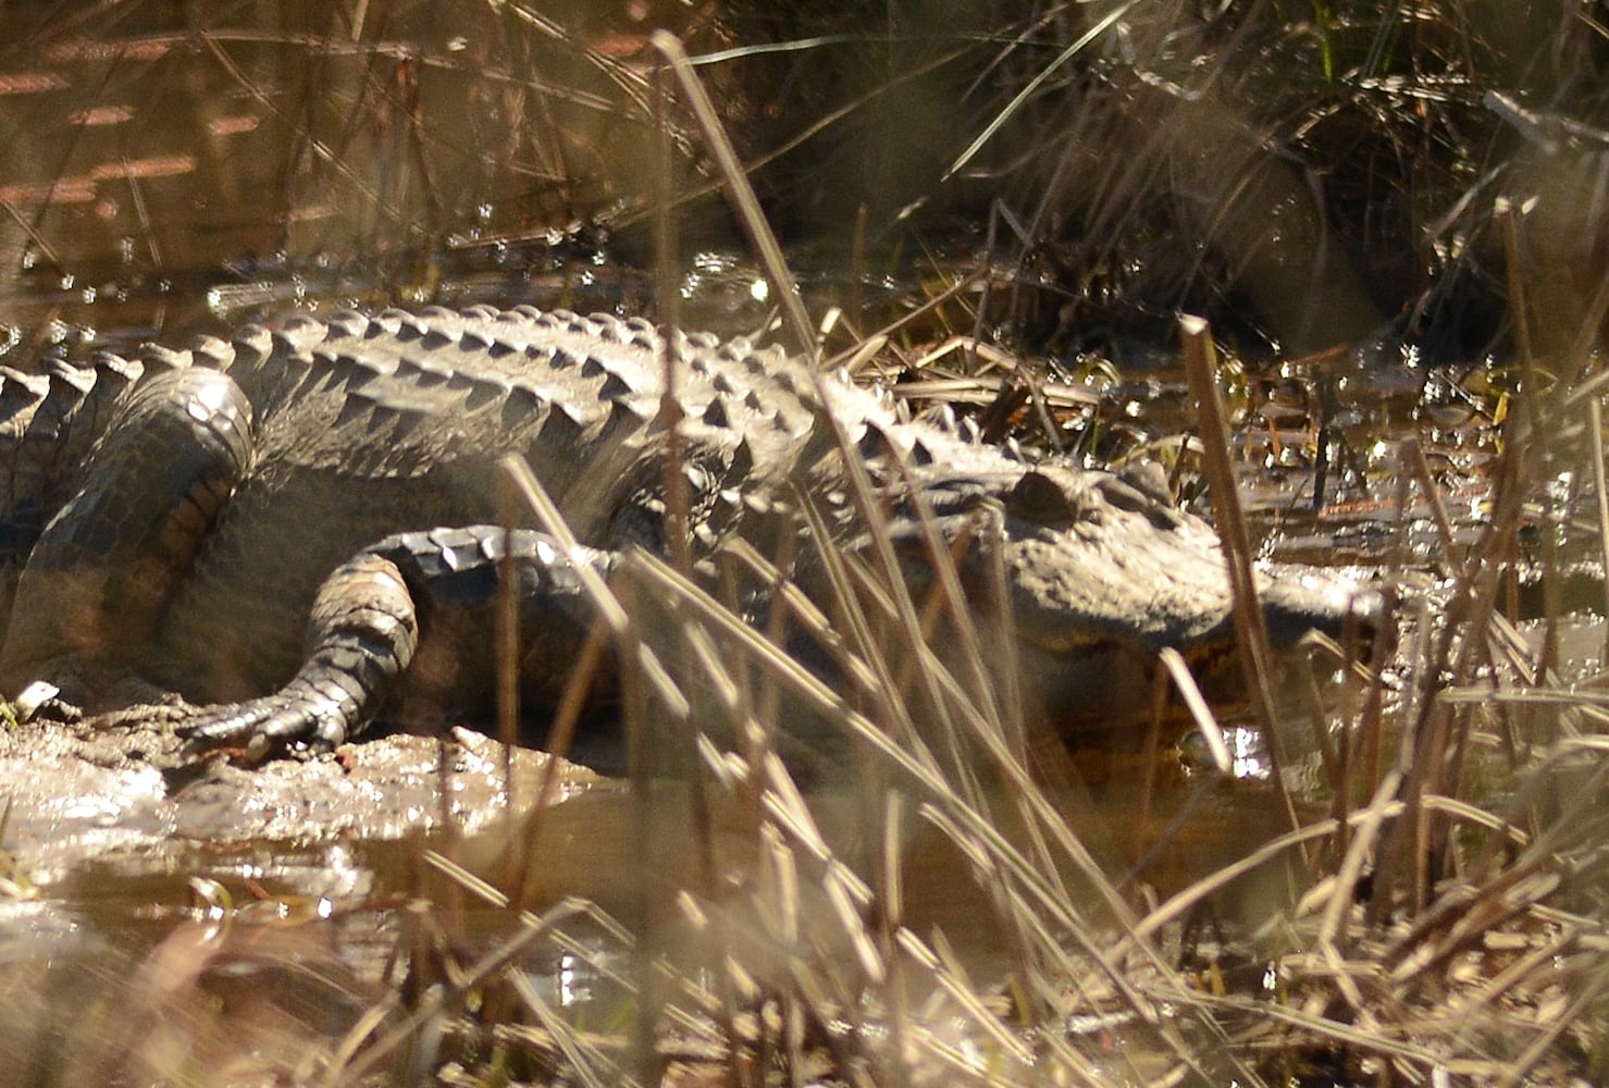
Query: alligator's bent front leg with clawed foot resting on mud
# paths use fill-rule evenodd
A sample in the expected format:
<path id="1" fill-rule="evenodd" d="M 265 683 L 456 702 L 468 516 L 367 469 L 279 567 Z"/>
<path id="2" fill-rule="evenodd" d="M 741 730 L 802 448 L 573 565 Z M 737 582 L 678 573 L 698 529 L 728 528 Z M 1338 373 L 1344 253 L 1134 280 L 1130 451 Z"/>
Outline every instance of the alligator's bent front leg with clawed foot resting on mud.
<path id="1" fill-rule="evenodd" d="M 571 558 L 541 533 L 492 525 L 386 538 L 325 579 L 296 676 L 270 695 L 193 711 L 183 726 L 190 747 L 241 747 L 261 760 L 293 745 L 333 748 L 388 707 L 412 703 L 401 716 L 417 719 L 417 707 L 428 705 L 438 726 L 454 711 L 484 710 L 508 571 L 520 604 L 521 686 L 552 695 L 592 616 Z M 578 558 L 603 575 L 615 563 L 591 549 Z"/>

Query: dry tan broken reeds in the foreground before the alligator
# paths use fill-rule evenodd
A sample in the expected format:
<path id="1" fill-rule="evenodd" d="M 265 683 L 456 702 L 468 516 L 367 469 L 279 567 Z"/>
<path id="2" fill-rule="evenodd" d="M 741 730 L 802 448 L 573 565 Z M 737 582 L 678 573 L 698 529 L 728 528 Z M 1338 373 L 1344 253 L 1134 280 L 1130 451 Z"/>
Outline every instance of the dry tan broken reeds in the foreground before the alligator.
<path id="1" fill-rule="evenodd" d="M 1530 452 L 1509 446 L 1516 488 Z M 1492 539 L 1519 528 L 1519 505 L 1500 501 Z M 1403 628 L 1393 668 L 1414 690 L 1398 719 L 1381 719 L 1382 673 L 1347 666 L 1339 702 L 1353 710 L 1321 723 L 1327 814 L 1155 901 L 1091 853 L 1091 829 L 1046 784 L 1054 774 L 1010 713 L 1009 661 L 978 653 L 957 674 L 932 649 L 938 629 L 991 644 L 978 626 L 998 618 L 957 607 L 948 579 L 938 600 L 914 600 L 875 557 L 830 546 L 816 558 L 835 589 L 819 607 L 764 557 L 735 558 L 782 587 L 787 615 L 769 631 L 652 557 L 594 587 L 644 690 L 644 718 L 629 723 L 639 758 L 692 771 L 632 784 L 650 819 L 693 813 L 684 882 L 658 885 L 658 908 L 623 927 L 576 901 L 515 909 L 430 856 L 462 895 L 508 911 L 513 937 L 465 959 L 451 911 L 422 903 L 414 924 L 431 938 L 415 945 L 407 985 L 333 1056 L 328 1083 L 446 1059 L 459 1070 L 446 1080 L 475 1083 L 1591 1083 L 1604 1072 L 1606 708 L 1514 650 L 1492 610 L 1500 563 L 1446 557 L 1459 604 L 1434 629 Z M 941 547 L 933 558 L 946 562 Z M 829 653 L 842 682 L 784 652 L 784 626 Z M 1340 660 L 1339 647 L 1313 657 L 1319 671 Z M 806 718 L 856 752 L 858 781 L 835 784 L 837 822 L 824 822 L 835 790 L 801 787 L 776 747 Z M 677 744 L 666 736 L 685 747 L 653 747 Z M 970 896 L 1004 935 L 988 972 L 943 930 L 907 924 L 920 834 L 953 851 L 946 893 Z M 512 842 L 526 864 L 549 848 L 539 827 Z M 1215 900 L 1270 861 L 1297 874 L 1290 906 L 1253 932 L 1204 930 Z M 563 937 L 582 914 L 607 932 L 607 953 Z M 552 942 L 618 975 L 611 1030 L 571 1024 L 521 982 L 529 951 Z M 471 1006 L 481 1014 L 465 1016 Z"/>

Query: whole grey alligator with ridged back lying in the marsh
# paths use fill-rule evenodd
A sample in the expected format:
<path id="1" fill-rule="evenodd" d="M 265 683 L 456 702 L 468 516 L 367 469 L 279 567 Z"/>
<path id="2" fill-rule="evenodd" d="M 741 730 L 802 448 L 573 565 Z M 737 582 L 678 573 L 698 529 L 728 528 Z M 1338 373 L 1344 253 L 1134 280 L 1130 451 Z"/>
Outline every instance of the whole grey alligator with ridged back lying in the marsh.
<path id="1" fill-rule="evenodd" d="M 685 518 L 666 513 L 671 433 Z M 510 454 L 579 544 L 529 513 L 499 528 Z M 713 578 L 734 538 L 806 555 L 788 542 L 811 533 L 864 554 L 851 460 L 912 591 L 933 584 L 935 531 L 969 594 L 1004 571 L 1047 707 L 1118 699 L 1133 686 L 1113 661 L 1232 645 L 1218 538 L 1160 473 L 1035 464 L 745 340 L 430 307 L 0 369 L 0 694 L 84 713 L 166 702 L 196 747 L 251 758 L 336 747 L 397 707 L 486 713 L 486 602 L 513 571 L 523 682 L 550 707 L 595 620 L 582 568 L 608 578 L 644 549 Z M 1368 610 L 1305 568 L 1258 578 L 1276 644 Z"/>

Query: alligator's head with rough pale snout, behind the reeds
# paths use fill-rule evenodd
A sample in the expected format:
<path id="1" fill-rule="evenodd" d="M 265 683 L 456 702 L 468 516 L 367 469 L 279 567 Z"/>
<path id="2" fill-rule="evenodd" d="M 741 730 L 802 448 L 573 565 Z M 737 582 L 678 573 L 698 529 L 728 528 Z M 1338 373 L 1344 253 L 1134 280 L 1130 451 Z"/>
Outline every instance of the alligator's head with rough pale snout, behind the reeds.
<path id="1" fill-rule="evenodd" d="M 1025 692 L 1062 729 L 1130 724 L 1149 710 L 1149 676 L 1163 647 L 1191 663 L 1215 700 L 1244 694 L 1234 596 L 1218 534 L 1173 505 L 1160 472 L 1088 472 L 1056 464 L 962 473 L 930 467 L 922 496 L 953 550 L 969 596 L 991 581 L 1009 597 Z M 980 521 L 993 510 L 998 530 Z M 914 518 L 893 539 L 914 591 L 932 558 Z M 999 573 L 991 573 L 991 571 Z M 1381 600 L 1331 571 L 1255 570 L 1258 607 L 1274 650 L 1310 633 L 1368 650 Z"/>

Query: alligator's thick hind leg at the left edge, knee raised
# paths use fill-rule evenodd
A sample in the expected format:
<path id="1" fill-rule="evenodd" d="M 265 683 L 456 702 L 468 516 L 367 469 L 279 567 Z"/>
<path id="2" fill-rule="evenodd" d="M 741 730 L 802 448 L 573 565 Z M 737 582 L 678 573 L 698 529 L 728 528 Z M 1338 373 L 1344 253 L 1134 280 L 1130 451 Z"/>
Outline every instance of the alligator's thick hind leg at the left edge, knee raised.
<path id="1" fill-rule="evenodd" d="M 216 370 L 148 380 L 90 454 L 18 581 L 0 690 L 68 702 L 127 687 L 174 589 L 245 475 L 251 404 Z"/>

